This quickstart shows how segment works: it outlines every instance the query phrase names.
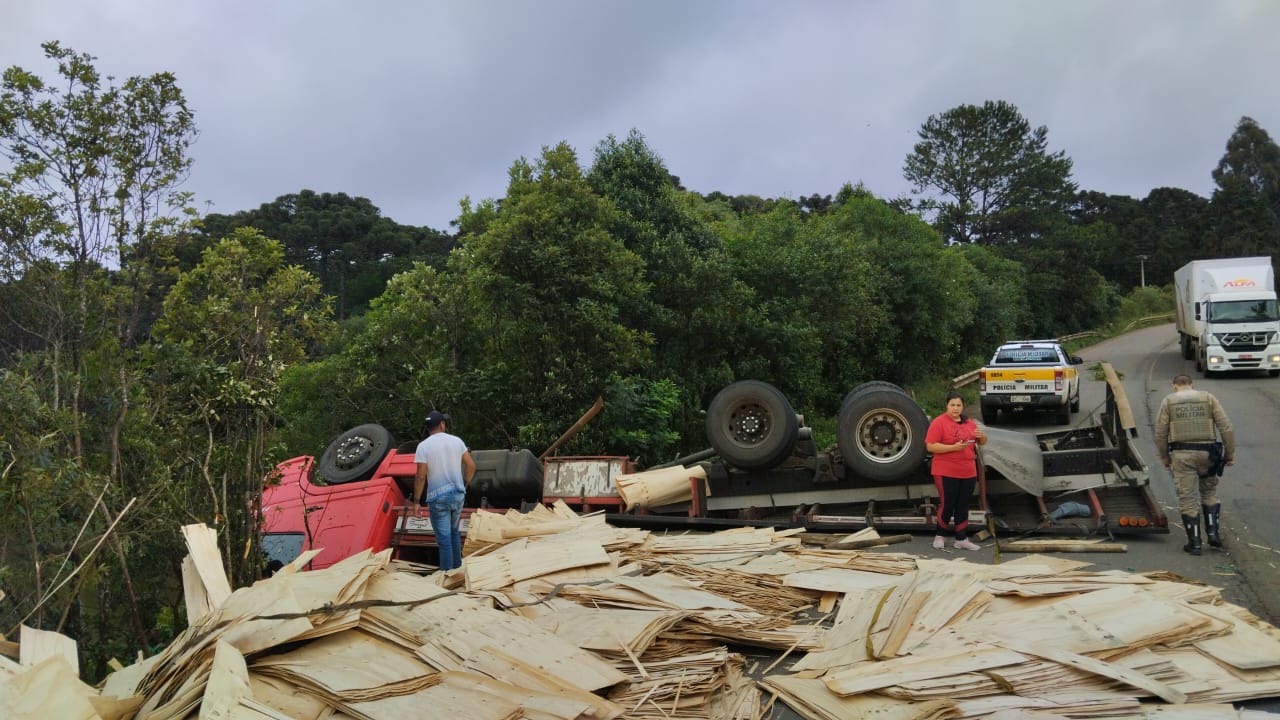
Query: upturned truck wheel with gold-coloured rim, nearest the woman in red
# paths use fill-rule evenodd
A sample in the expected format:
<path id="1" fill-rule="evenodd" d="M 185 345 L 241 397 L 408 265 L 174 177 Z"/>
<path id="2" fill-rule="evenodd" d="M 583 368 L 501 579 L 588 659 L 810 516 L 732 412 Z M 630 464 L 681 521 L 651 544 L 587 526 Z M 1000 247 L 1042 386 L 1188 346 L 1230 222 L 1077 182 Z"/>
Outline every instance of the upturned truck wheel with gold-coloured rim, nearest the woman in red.
<path id="1" fill-rule="evenodd" d="M 929 418 L 905 392 L 872 387 L 840 409 L 836 442 L 856 475 L 887 483 L 920 468 L 928 427 Z"/>

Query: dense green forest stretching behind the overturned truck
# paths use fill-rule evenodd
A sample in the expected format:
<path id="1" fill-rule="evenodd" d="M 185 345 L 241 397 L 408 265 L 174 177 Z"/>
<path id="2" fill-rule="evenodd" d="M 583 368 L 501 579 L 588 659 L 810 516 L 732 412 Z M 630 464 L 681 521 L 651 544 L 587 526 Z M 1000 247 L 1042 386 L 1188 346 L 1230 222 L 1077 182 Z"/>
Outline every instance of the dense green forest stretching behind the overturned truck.
<path id="1" fill-rule="evenodd" d="M 201 215 L 175 78 L 45 51 L 56 76 L 0 87 L 0 633 L 68 633 L 90 676 L 184 626 L 179 525 L 252 582 L 264 478 L 352 425 L 416 439 L 442 409 L 472 447 L 540 452 L 599 396 L 563 450 L 652 464 L 705 447 L 735 379 L 831 416 L 868 379 L 1167 311 L 1190 259 L 1280 250 L 1280 147 L 1248 117 L 1212 197 L 1133 199 L 1078 187 L 998 100 L 923 120 L 906 197 L 699 192 L 632 131 L 513 160 L 448 231 L 311 190 Z"/>

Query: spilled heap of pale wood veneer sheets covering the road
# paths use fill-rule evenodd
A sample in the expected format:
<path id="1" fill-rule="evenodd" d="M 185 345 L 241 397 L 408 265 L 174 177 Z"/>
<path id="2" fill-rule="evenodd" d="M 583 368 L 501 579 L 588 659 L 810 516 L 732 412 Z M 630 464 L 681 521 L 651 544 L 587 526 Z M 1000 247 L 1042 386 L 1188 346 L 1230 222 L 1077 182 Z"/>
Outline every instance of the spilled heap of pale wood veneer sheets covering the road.
<path id="1" fill-rule="evenodd" d="M 0 644 L 0 716 L 745 720 L 785 703 L 805 719 L 1215 720 L 1271 717 L 1230 703 L 1280 696 L 1280 632 L 1167 573 L 658 534 L 558 505 L 477 512 L 451 573 L 303 556 L 230 592 L 216 538 L 184 534 L 187 630 L 90 687 L 72 641 L 24 628 L 17 651 Z"/>

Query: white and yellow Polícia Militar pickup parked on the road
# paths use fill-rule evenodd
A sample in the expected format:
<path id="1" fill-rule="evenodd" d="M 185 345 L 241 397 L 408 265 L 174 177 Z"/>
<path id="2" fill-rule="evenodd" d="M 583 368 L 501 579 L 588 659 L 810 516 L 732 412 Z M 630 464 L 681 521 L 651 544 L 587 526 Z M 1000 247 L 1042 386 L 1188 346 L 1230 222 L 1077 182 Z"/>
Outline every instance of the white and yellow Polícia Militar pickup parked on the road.
<path id="1" fill-rule="evenodd" d="M 1071 423 L 1080 410 L 1080 373 L 1084 359 L 1068 355 L 1052 340 L 1006 342 L 978 372 L 982 421 L 995 425 L 1000 413 L 1050 410 L 1057 424 Z"/>

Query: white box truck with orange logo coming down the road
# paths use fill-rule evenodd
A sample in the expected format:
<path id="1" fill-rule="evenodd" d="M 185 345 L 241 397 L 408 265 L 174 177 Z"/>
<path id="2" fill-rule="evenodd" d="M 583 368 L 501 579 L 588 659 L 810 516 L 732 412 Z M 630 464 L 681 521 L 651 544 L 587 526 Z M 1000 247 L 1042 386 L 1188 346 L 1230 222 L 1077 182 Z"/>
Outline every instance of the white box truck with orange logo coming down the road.
<path id="1" fill-rule="evenodd" d="M 1192 260 L 1174 273 L 1183 359 L 1206 375 L 1280 375 L 1280 309 L 1270 258 Z"/>

